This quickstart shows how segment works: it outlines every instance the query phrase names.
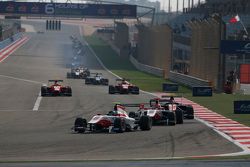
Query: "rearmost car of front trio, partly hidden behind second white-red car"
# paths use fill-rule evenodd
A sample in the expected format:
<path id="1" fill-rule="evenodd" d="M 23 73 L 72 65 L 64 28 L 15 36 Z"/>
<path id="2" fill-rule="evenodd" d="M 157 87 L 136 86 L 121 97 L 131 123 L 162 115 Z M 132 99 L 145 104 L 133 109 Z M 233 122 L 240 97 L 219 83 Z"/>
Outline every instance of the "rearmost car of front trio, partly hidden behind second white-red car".
<path id="1" fill-rule="evenodd" d="M 194 108 L 192 105 L 185 105 L 182 103 L 177 103 L 174 100 L 173 96 L 162 96 L 162 98 L 156 98 L 150 100 L 150 105 L 155 105 L 156 101 L 159 102 L 161 107 L 163 107 L 165 110 L 170 111 L 182 111 L 183 118 L 185 119 L 194 119 Z"/>

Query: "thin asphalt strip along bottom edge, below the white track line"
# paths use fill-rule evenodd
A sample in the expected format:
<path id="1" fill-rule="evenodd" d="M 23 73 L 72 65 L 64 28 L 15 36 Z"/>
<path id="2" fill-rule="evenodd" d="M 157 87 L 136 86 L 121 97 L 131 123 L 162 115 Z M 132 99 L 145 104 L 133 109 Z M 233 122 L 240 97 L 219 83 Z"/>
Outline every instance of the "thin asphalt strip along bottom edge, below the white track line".
<path id="1" fill-rule="evenodd" d="M 96 161 L 96 162 L 43 162 L 43 163 L 2 163 L 0 167 L 249 167 L 249 161 Z"/>

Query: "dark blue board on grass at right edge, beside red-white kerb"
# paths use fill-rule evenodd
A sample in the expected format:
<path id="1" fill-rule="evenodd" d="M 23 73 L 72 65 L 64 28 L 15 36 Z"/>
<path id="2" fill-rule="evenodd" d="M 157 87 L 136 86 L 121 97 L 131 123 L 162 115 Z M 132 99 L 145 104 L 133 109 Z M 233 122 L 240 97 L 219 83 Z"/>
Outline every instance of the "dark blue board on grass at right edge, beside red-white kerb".
<path id="1" fill-rule="evenodd" d="M 250 100 L 234 101 L 234 114 L 250 114 Z"/>

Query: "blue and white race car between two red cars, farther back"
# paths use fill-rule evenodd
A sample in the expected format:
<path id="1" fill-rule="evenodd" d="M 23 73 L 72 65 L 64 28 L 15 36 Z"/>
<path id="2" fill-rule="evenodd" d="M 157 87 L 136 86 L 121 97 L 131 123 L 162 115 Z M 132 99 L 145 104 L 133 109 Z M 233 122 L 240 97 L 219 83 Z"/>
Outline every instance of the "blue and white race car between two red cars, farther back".
<path id="1" fill-rule="evenodd" d="M 85 78 L 85 84 L 89 85 L 108 85 L 109 80 L 102 77 L 102 73 L 91 73 L 94 76 L 89 76 Z"/>

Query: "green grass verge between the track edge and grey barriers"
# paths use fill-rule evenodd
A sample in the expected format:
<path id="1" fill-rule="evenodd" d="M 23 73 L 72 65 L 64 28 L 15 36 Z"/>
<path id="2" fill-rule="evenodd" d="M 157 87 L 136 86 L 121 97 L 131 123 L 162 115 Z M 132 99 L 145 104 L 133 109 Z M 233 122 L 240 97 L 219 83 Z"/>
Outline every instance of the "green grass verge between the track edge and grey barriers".
<path id="1" fill-rule="evenodd" d="M 109 70 L 123 78 L 131 79 L 131 82 L 138 85 L 140 89 L 149 92 L 161 92 L 162 83 L 170 82 L 161 77 L 138 71 L 127 58 L 119 57 L 108 44 L 97 36 L 86 36 L 85 39 Z M 181 94 L 184 97 L 212 111 L 250 126 L 249 115 L 233 114 L 233 101 L 250 99 L 250 95 L 214 93 L 212 97 L 192 97 L 191 90 L 185 86 L 180 86 L 179 92 L 182 92 Z"/>

